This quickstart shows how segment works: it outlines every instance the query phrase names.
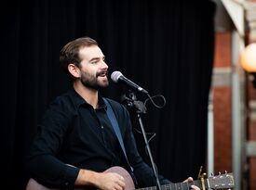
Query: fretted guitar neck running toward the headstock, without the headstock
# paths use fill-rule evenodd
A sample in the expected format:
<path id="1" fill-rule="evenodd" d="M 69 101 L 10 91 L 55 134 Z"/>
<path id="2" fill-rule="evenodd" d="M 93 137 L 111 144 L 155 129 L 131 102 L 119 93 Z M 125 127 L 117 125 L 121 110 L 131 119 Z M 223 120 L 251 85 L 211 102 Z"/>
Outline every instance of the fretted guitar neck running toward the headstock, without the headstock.
<path id="1" fill-rule="evenodd" d="M 203 183 L 204 183 L 203 185 L 205 186 L 205 188 L 208 189 L 209 185 L 206 184 L 205 180 Z M 189 189 L 191 189 L 190 186 L 192 184 L 195 184 L 200 189 L 203 189 L 203 187 L 202 187 L 203 185 L 202 185 L 201 181 L 195 180 L 193 182 L 187 182 L 187 183 L 163 184 L 163 185 L 161 185 L 161 190 L 189 190 Z M 140 188 L 137 190 L 157 190 L 157 188 L 156 188 L 156 186 L 151 186 L 151 187 Z"/>

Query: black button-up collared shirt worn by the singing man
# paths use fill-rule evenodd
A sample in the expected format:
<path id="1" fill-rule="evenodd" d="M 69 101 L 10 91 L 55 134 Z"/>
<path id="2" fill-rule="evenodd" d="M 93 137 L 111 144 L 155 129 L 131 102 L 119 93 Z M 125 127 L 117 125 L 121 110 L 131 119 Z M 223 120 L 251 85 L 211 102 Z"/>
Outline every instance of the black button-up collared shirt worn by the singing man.
<path id="1" fill-rule="evenodd" d="M 129 163 L 140 186 L 155 184 L 152 169 L 138 153 L 128 110 L 108 99 L 124 139 Z M 92 108 L 74 90 L 57 97 L 38 125 L 28 169 L 37 181 L 53 186 L 74 184 L 79 169 L 105 171 L 119 165 L 128 170 L 101 96 L 99 108 Z M 160 176 L 162 184 L 169 183 Z"/>

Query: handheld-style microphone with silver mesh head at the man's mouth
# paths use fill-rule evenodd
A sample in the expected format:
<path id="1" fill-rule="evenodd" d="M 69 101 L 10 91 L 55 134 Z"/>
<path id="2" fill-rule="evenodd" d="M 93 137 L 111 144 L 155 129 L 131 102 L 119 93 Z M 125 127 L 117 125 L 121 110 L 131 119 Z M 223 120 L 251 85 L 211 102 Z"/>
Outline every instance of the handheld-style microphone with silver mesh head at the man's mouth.
<path id="1" fill-rule="evenodd" d="M 138 84 L 128 80 L 128 78 L 126 78 L 120 71 L 114 71 L 111 74 L 111 79 L 113 82 L 123 82 L 123 83 L 127 84 L 129 87 L 131 87 L 141 93 L 148 94 L 148 92 L 145 89 L 141 88 L 141 86 L 139 86 Z"/>

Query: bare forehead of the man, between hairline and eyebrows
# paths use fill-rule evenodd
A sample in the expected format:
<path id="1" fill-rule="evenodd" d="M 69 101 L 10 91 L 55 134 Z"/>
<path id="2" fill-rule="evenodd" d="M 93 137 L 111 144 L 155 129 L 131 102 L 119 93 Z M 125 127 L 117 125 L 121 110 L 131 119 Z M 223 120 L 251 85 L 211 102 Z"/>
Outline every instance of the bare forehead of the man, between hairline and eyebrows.
<path id="1" fill-rule="evenodd" d="M 90 60 L 90 59 L 96 58 L 96 57 L 103 57 L 104 55 L 99 46 L 92 45 L 92 46 L 82 47 L 79 50 L 79 56 L 82 60 L 84 60 L 84 59 Z"/>

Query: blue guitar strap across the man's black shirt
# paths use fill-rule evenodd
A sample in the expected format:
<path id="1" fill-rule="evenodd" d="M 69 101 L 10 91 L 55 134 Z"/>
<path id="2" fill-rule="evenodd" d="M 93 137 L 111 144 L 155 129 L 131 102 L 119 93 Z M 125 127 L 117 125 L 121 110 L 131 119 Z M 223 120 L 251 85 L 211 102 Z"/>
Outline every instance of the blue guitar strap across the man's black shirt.
<path id="1" fill-rule="evenodd" d="M 122 138 L 122 135 L 121 135 L 121 132 L 120 132 L 120 128 L 119 128 L 118 122 L 117 122 L 117 120 L 116 120 L 116 117 L 115 117 L 115 113 L 114 113 L 114 111 L 113 111 L 113 108 L 111 107 L 109 101 L 108 101 L 106 98 L 103 98 L 103 100 L 104 100 L 104 102 L 105 102 L 105 104 L 106 104 L 106 106 L 107 106 L 107 110 L 106 110 L 107 116 L 108 116 L 109 120 L 111 121 L 111 125 L 112 125 L 112 127 L 114 128 L 115 135 L 116 135 L 116 137 L 117 137 L 117 139 L 118 139 L 118 142 L 119 142 L 119 144 L 120 144 L 120 146 L 121 146 L 121 148 L 122 148 L 122 150 L 123 150 L 123 153 L 124 153 L 124 155 L 125 155 L 125 158 L 127 159 L 127 163 L 128 163 L 129 168 L 130 168 L 131 177 L 132 177 L 132 179 L 133 179 L 133 181 L 134 181 L 134 184 L 137 185 L 137 180 L 136 180 L 135 175 L 134 175 L 134 173 L 133 173 L 134 169 L 133 169 L 133 167 L 129 164 L 128 156 L 127 156 L 127 152 L 126 152 L 126 148 L 125 148 L 125 146 L 124 146 L 124 141 L 123 141 L 123 138 Z"/>

